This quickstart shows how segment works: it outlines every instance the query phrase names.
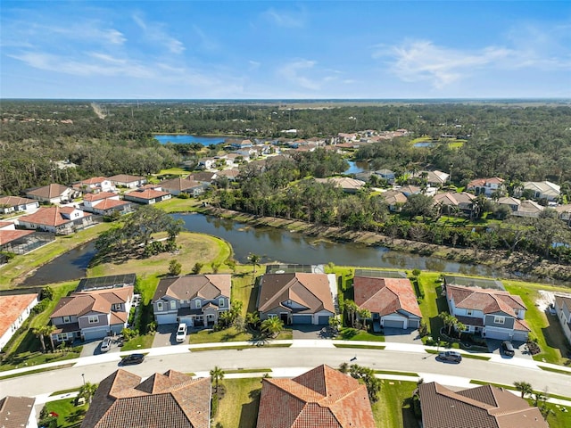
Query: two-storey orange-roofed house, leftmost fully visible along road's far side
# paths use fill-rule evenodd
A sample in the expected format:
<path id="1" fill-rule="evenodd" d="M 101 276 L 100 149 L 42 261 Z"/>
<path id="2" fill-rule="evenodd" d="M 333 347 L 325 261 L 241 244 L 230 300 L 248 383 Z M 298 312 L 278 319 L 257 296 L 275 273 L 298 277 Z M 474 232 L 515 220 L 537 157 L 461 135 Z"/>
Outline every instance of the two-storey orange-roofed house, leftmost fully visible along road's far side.
<path id="1" fill-rule="evenodd" d="M 73 292 L 63 297 L 50 315 L 54 342 L 91 341 L 119 334 L 127 327 L 133 287 Z"/>

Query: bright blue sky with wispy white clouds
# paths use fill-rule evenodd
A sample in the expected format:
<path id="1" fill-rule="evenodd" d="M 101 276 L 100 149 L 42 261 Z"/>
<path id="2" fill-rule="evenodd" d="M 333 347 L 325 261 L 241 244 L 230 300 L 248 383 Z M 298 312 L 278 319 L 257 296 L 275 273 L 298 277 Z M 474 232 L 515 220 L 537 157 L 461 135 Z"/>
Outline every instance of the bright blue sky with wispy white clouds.
<path id="1" fill-rule="evenodd" d="M 9 1 L 2 98 L 571 97 L 571 2 Z"/>

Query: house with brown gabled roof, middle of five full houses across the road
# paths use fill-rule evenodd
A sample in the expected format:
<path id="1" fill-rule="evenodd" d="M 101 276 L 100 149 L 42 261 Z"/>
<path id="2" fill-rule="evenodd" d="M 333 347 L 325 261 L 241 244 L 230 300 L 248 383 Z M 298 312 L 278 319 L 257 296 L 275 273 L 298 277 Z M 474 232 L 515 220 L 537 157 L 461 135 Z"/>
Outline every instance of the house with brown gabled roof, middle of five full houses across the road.
<path id="1" fill-rule="evenodd" d="M 327 325 L 335 316 L 335 275 L 285 273 L 261 276 L 256 307 L 260 319 L 279 317 L 284 324 Z"/>

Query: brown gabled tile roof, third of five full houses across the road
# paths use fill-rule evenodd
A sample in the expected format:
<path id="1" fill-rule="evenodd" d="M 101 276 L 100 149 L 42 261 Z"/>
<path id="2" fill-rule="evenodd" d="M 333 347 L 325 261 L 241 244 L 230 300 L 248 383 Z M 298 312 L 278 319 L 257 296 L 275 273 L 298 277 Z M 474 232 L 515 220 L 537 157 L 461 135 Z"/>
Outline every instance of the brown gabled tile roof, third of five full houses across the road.
<path id="1" fill-rule="evenodd" d="M 266 274 L 261 277 L 258 310 L 268 312 L 283 307 L 285 300 L 294 300 L 313 314 L 321 309 L 335 313 L 329 280 L 325 274 Z"/>

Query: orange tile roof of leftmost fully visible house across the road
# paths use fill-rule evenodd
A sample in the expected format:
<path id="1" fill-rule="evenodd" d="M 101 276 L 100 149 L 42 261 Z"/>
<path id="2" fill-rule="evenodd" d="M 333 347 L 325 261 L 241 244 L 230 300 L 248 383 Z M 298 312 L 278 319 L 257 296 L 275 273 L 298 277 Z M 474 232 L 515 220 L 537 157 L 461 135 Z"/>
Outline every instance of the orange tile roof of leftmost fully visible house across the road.
<path id="1" fill-rule="evenodd" d="M 125 303 L 132 294 L 132 286 L 73 292 L 60 299 L 50 317 L 82 316 L 89 312 L 109 314 L 113 303 Z"/>

